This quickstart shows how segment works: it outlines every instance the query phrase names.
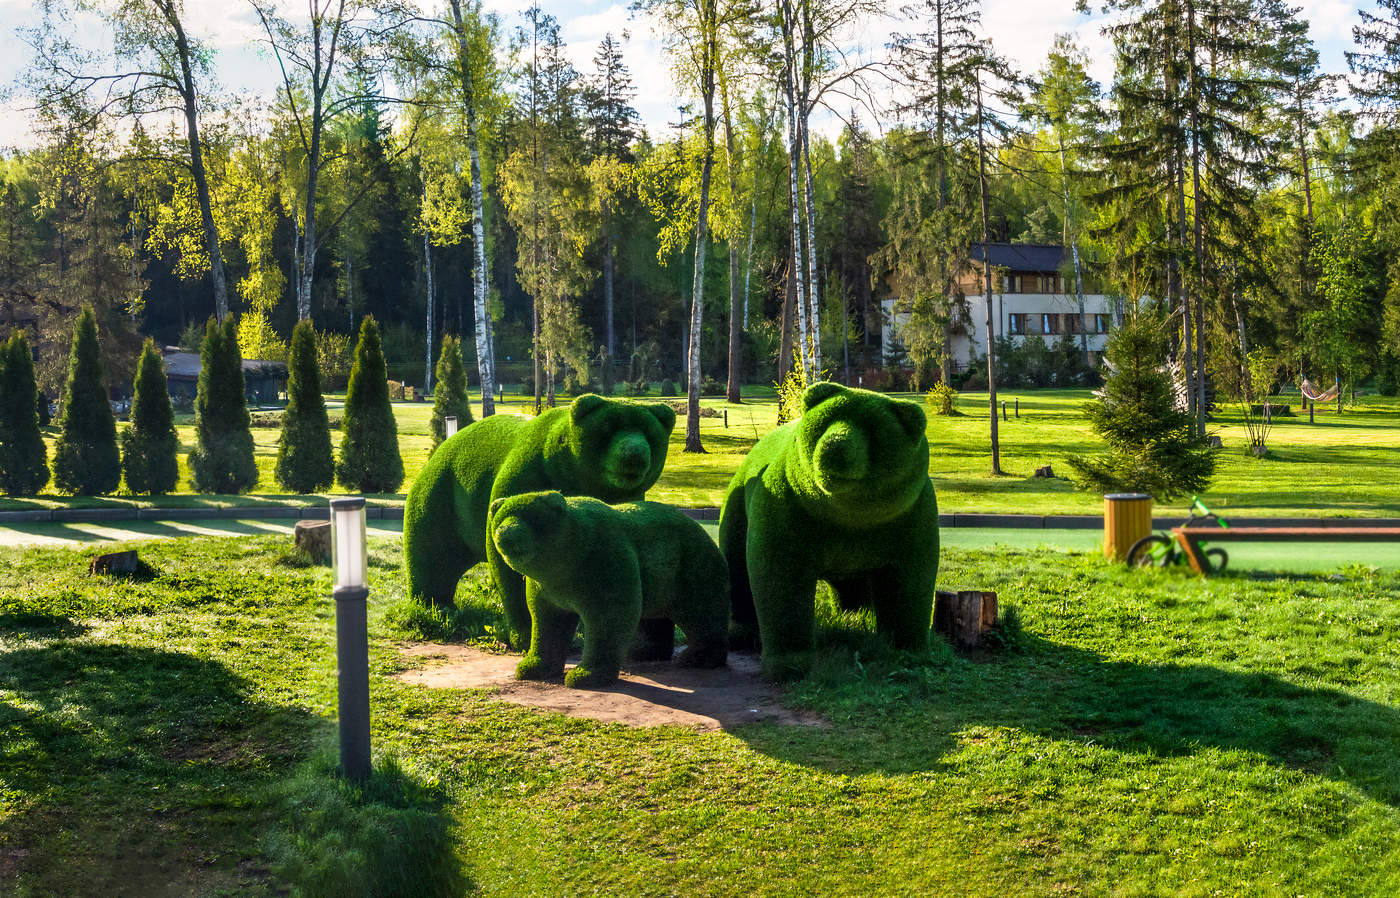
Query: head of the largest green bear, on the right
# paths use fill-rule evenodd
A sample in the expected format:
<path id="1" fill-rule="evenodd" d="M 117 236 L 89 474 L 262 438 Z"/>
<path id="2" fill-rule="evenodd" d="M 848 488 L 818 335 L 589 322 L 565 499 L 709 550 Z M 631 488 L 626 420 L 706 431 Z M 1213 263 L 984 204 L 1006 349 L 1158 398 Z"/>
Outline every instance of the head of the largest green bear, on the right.
<path id="1" fill-rule="evenodd" d="M 917 402 L 840 384 L 812 384 L 794 422 L 795 486 L 851 524 L 906 511 L 928 482 L 928 437 Z"/>

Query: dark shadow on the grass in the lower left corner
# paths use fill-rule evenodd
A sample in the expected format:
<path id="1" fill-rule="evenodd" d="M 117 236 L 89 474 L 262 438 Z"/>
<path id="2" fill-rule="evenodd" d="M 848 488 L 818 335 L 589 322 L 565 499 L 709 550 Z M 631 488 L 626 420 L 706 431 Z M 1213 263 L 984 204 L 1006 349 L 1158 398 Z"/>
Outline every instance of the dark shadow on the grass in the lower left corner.
<path id="1" fill-rule="evenodd" d="M 0 891 L 323 894 L 385 876 L 424 884 L 406 894 L 465 890 L 445 796 L 398 771 L 346 792 L 333 771 L 298 769 L 325 721 L 255 692 L 175 651 L 57 642 L 0 654 L 0 792 L 21 808 L 0 822 Z M 288 845 L 336 846 L 335 869 Z"/>

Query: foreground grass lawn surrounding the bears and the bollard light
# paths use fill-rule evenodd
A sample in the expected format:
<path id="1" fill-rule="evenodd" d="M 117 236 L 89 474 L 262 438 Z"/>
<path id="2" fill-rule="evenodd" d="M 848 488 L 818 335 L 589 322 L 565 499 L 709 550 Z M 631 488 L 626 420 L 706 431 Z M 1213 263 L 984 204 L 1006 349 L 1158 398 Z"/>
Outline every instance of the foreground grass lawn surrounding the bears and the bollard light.
<path id="1" fill-rule="evenodd" d="M 136 581 L 0 551 L 0 892 L 1400 892 L 1400 574 L 946 548 L 942 588 L 1015 608 L 1005 647 L 899 657 L 827 611 L 785 700 L 829 728 L 694 733 L 391 679 L 420 616 L 377 539 L 360 790 L 329 573 L 286 549 L 148 542 Z M 480 579 L 459 598 L 489 642 Z"/>

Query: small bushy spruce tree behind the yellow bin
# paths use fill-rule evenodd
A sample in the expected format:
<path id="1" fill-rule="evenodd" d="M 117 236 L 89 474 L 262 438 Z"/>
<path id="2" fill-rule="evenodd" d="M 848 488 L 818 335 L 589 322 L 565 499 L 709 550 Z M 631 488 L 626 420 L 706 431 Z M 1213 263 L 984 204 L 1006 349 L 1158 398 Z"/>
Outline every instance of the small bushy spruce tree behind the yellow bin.
<path id="1" fill-rule="evenodd" d="M 1161 315 L 1142 310 L 1109 336 L 1103 388 L 1085 405 L 1109 453 L 1067 460 L 1082 489 L 1173 499 L 1210 483 L 1215 450 L 1194 436 L 1193 416 L 1176 406 L 1163 331 Z"/>

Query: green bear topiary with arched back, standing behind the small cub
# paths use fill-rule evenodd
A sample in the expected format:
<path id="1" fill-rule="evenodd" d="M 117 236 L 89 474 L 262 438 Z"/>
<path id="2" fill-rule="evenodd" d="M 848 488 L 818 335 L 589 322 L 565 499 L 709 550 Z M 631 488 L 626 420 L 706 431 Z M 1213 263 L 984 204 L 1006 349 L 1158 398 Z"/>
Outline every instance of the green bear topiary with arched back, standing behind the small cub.
<path id="1" fill-rule="evenodd" d="M 524 647 L 531 626 L 525 580 L 486 538 L 491 500 L 549 489 L 603 502 L 641 499 L 661 476 L 675 426 L 668 405 L 588 394 L 533 419 L 493 415 L 463 427 L 433 453 L 409 489 L 409 594 L 449 607 L 462 574 L 487 562 L 511 640 Z"/>

